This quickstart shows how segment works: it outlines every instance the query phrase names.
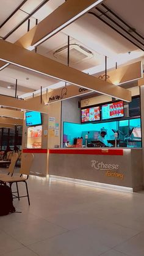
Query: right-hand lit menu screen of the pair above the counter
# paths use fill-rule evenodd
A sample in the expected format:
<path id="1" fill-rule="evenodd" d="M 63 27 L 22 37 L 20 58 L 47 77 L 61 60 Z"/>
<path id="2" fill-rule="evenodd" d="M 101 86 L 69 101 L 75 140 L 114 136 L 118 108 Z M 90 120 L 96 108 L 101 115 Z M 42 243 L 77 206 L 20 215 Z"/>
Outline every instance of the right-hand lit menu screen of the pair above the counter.
<path id="1" fill-rule="evenodd" d="M 102 119 L 113 119 L 124 116 L 123 101 L 104 104 L 101 108 Z"/>

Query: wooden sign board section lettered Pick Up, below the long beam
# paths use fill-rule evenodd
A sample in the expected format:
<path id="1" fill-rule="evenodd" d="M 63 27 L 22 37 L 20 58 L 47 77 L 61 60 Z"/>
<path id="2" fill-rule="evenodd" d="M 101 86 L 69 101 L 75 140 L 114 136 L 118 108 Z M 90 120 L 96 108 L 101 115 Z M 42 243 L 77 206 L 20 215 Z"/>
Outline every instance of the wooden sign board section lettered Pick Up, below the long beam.
<path id="1" fill-rule="evenodd" d="M 49 104 L 90 92 L 92 92 L 92 90 L 88 90 L 78 86 L 65 86 L 56 90 L 52 90 L 52 92 L 46 93 L 43 96 L 43 101 L 45 102 L 45 104 Z"/>

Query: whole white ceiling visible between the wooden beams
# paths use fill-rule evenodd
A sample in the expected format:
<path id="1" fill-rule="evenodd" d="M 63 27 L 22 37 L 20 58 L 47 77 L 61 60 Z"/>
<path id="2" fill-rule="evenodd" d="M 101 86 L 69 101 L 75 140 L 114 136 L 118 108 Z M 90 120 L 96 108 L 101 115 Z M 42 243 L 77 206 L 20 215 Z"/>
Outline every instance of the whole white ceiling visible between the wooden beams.
<path id="1" fill-rule="evenodd" d="M 36 19 L 39 23 L 63 2 L 65 0 L 1 0 L 0 37 L 8 42 L 16 42 L 26 34 L 28 18 L 31 29 L 35 26 Z M 138 59 L 143 61 L 144 1 L 105 0 L 103 4 L 99 4 L 98 9 L 91 10 L 90 13 L 41 43 L 37 48 L 37 53 L 67 65 L 67 44 L 68 35 L 70 35 L 70 66 L 78 70 L 90 74 L 103 71 L 105 56 L 107 56 L 108 69 L 115 67 L 115 62 L 118 65 L 124 65 Z M 0 71 L 0 93 L 14 97 L 16 79 L 18 79 L 17 95 L 19 97 L 27 97 L 29 93 L 40 92 L 41 86 L 46 90 L 46 88 L 54 89 L 64 85 L 57 79 L 9 65 Z M 10 85 L 11 88 L 8 89 L 7 86 Z"/>

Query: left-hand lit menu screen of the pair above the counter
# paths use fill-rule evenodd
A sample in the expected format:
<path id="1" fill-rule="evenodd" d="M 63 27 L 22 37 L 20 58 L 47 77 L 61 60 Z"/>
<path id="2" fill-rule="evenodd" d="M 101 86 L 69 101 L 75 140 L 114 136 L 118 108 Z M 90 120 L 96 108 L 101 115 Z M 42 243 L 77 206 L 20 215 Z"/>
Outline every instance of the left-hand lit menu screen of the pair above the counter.
<path id="1" fill-rule="evenodd" d="M 81 121 L 82 123 L 85 122 L 93 122 L 100 120 L 100 108 L 93 107 L 93 108 L 86 108 L 81 109 Z"/>

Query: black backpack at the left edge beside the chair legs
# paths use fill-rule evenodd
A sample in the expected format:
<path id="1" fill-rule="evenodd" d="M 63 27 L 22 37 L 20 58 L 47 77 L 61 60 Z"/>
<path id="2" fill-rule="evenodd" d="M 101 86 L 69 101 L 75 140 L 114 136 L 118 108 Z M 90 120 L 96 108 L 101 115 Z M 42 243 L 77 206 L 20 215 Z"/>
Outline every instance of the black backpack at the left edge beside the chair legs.
<path id="1" fill-rule="evenodd" d="M 0 181 L 0 216 L 14 213 L 12 191 L 3 181 Z"/>

